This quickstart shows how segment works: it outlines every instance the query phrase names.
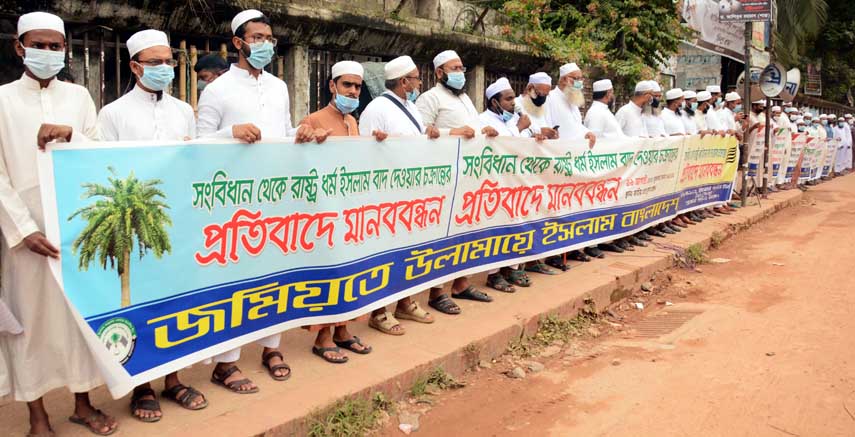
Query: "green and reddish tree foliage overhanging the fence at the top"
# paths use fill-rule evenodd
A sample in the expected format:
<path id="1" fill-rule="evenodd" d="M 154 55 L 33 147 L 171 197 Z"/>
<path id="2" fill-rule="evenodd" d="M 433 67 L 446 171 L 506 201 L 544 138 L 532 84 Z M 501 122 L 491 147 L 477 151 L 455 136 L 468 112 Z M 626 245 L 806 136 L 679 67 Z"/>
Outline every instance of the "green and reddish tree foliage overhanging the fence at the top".
<path id="1" fill-rule="evenodd" d="M 691 31 L 672 0 L 494 1 L 505 33 L 536 55 L 600 67 L 628 80 L 650 77 Z"/>

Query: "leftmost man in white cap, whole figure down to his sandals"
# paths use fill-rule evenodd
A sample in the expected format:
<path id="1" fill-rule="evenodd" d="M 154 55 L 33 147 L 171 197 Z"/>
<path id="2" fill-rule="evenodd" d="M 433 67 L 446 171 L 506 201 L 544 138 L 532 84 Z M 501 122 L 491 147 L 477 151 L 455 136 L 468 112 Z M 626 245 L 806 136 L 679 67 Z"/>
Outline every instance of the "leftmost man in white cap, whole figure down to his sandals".
<path id="1" fill-rule="evenodd" d="M 23 58 L 24 74 L 0 86 L 0 302 L 23 332 L 0 335 L 0 397 L 11 393 L 27 402 L 29 433 L 48 435 L 42 396 L 66 387 L 75 393 L 70 419 L 93 432 L 112 433 L 115 419 L 89 403 L 87 392 L 101 384 L 98 365 L 48 267 L 59 249 L 44 234 L 36 168 L 38 149 L 49 142 L 97 138 L 95 104 L 85 88 L 56 80 L 65 66 L 61 18 L 22 15 L 17 33 L 15 53 Z"/>

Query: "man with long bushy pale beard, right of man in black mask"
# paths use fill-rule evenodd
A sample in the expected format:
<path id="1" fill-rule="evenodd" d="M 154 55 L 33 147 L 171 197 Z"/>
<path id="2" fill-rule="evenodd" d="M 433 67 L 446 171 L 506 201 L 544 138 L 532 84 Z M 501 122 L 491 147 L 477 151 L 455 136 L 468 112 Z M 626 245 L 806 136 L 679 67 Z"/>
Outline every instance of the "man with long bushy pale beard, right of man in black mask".
<path id="1" fill-rule="evenodd" d="M 549 92 L 546 99 L 546 112 L 550 123 L 558 126 L 558 135 L 565 140 L 586 138 L 588 146 L 594 147 L 597 136 L 582 123 L 579 108 L 585 106 L 584 77 L 575 63 L 564 64 L 558 70 L 558 85 Z M 579 256 L 581 253 L 575 252 Z"/>

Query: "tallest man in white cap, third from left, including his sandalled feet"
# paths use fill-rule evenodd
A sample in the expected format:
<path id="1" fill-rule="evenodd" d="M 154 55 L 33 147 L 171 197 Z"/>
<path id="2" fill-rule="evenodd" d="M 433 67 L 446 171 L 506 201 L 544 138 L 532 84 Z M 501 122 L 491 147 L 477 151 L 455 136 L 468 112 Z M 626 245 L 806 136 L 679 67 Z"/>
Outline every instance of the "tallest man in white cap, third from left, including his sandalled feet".
<path id="1" fill-rule="evenodd" d="M 296 135 L 297 142 L 326 139 L 326 131 L 313 132 L 308 126 L 294 129 L 288 109 L 288 87 L 278 77 L 264 71 L 273 59 L 276 38 L 270 20 L 254 9 L 232 19 L 232 44 L 238 63 L 205 87 L 199 99 L 197 132 L 200 138 L 235 138 L 254 143 L 265 138 Z M 280 334 L 257 343 L 264 347 L 262 363 L 271 378 L 284 381 L 291 376 L 279 351 Z M 245 378 L 235 363 L 240 348 L 216 355 L 211 381 L 235 393 L 256 393 L 258 386 Z"/>

